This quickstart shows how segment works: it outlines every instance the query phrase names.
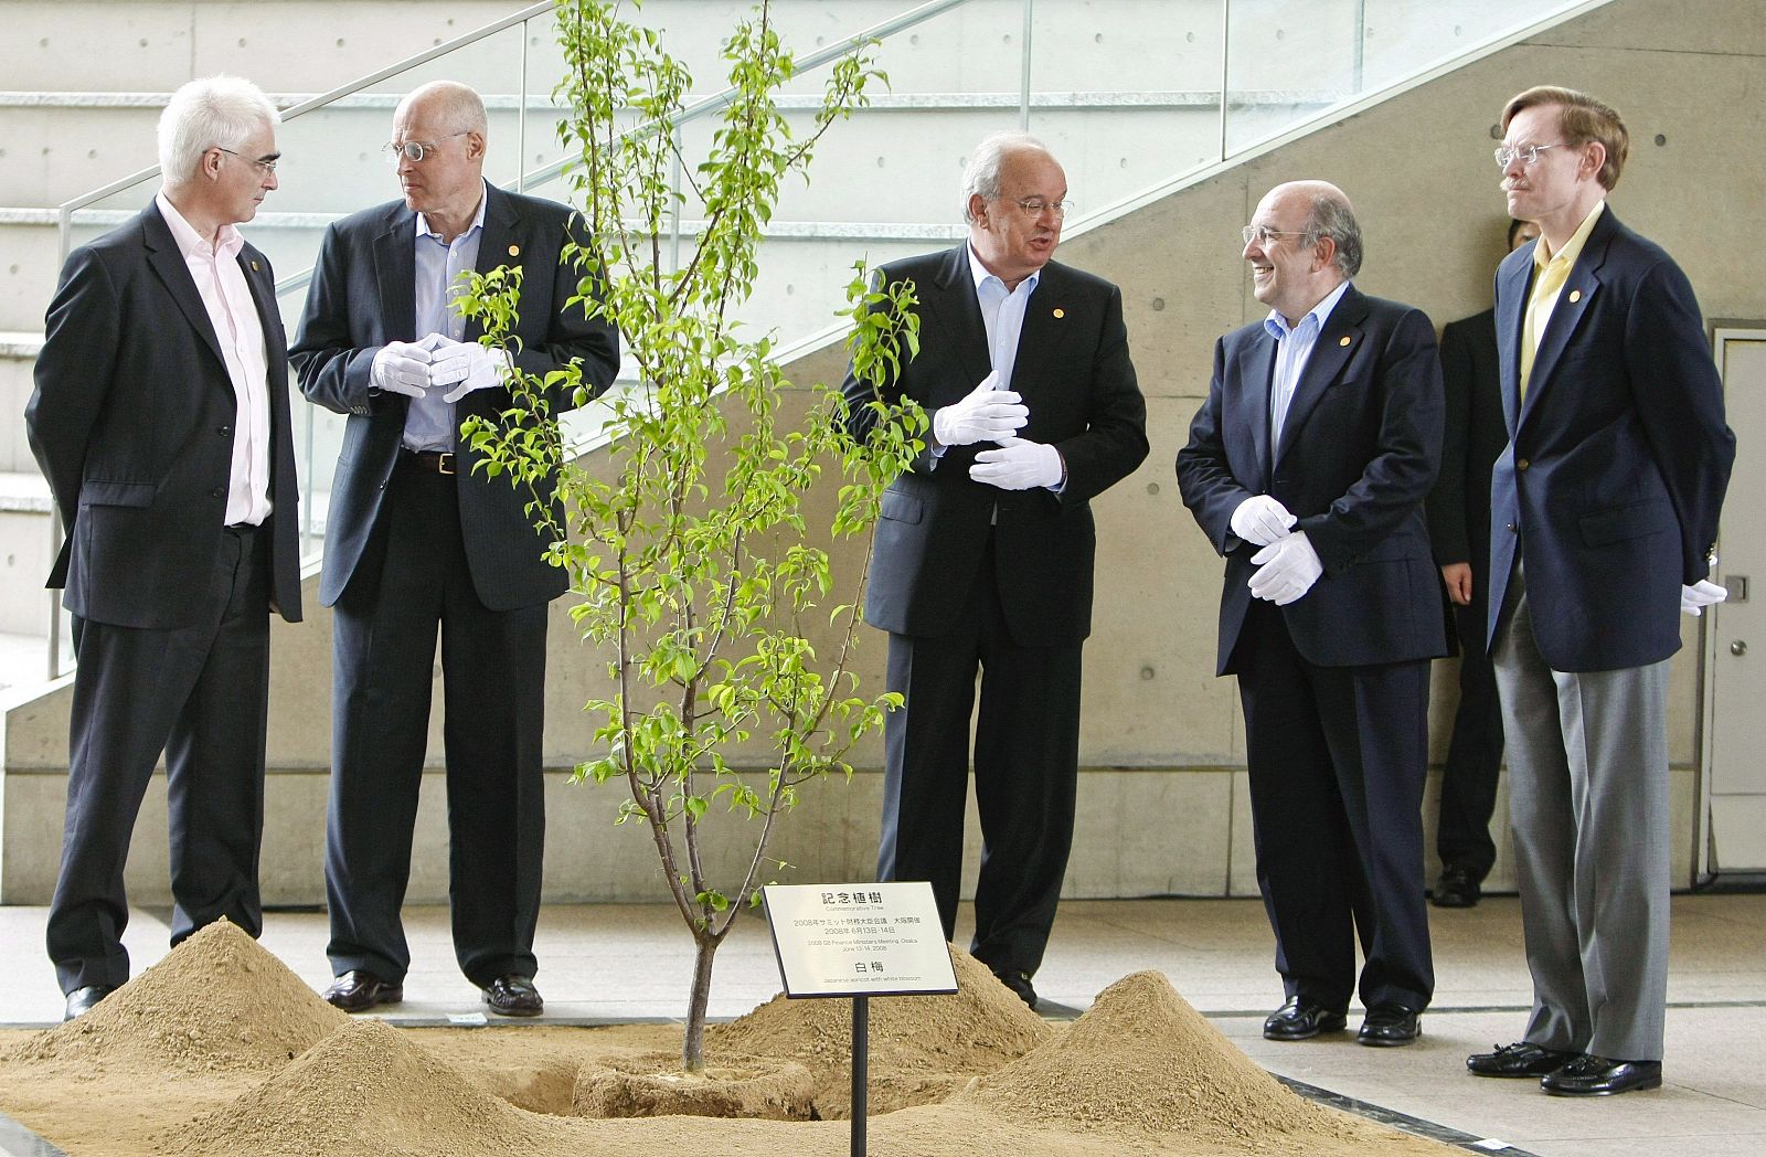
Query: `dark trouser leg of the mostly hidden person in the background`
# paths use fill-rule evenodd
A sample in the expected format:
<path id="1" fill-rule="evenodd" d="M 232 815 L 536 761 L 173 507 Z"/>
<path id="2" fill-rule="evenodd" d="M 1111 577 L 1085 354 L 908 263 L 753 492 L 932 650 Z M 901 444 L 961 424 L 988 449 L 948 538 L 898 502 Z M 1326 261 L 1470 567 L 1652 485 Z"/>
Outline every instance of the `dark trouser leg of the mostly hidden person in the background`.
<path id="1" fill-rule="evenodd" d="M 1483 576 L 1475 576 L 1482 583 Z M 1436 853 L 1441 866 L 1457 864 L 1482 883 L 1496 864 L 1491 816 L 1496 813 L 1496 774 L 1503 763 L 1503 705 L 1496 696 L 1496 666 L 1485 648 L 1487 602 L 1473 597 L 1453 608 L 1459 627 L 1459 710 L 1453 738 L 1441 767 L 1441 816 Z"/>

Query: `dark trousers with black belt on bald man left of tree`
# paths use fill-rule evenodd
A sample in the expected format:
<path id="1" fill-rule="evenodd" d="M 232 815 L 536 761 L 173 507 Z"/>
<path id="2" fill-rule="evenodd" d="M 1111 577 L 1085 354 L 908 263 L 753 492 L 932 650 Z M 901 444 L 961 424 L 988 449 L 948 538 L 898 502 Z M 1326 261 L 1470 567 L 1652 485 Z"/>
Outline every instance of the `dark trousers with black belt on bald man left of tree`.
<path id="1" fill-rule="evenodd" d="M 404 459 L 401 459 L 403 463 Z M 401 465 L 332 616 L 325 896 L 332 972 L 401 982 L 436 634 L 454 954 L 479 986 L 532 977 L 546 800 L 546 606 L 491 611 L 466 569 L 450 475 Z"/>

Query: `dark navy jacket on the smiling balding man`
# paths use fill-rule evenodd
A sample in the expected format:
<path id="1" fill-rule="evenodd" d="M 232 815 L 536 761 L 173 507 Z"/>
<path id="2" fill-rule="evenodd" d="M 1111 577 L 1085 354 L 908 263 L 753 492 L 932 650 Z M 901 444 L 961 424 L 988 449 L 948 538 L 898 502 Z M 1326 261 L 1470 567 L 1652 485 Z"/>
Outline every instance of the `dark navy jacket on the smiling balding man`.
<path id="1" fill-rule="evenodd" d="M 1420 309 L 1353 284 L 1332 309 L 1294 387 L 1282 442 L 1270 447 L 1277 343 L 1256 321 L 1215 344 L 1208 401 L 1178 452 L 1183 505 L 1226 556 L 1217 673 L 1234 673 L 1247 583 L 1259 546 L 1233 533 L 1233 510 L 1272 495 L 1324 563 L 1282 608 L 1300 654 L 1317 666 L 1402 662 L 1446 654 L 1441 578 L 1423 498 L 1441 463 L 1441 362 Z"/>

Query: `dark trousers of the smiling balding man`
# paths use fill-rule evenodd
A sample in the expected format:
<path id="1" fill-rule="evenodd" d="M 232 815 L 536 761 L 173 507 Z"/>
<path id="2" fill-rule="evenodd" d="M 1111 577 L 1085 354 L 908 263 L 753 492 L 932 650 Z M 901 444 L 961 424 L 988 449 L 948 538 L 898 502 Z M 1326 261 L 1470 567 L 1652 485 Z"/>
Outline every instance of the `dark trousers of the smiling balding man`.
<path id="1" fill-rule="evenodd" d="M 1257 887 L 1286 993 L 1347 1009 L 1360 940 L 1362 1003 L 1425 1009 L 1429 661 L 1316 666 L 1294 650 L 1280 608 L 1256 601 L 1234 669 Z"/>

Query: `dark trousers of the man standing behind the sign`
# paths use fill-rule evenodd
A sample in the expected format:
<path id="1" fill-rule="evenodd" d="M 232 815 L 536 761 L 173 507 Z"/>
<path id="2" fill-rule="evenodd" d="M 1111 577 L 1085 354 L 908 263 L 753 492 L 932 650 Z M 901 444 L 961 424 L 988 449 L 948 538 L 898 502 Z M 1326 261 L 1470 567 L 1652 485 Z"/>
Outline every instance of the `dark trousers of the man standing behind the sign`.
<path id="1" fill-rule="evenodd" d="M 950 634 L 888 639 L 888 689 L 906 696 L 883 733 L 878 880 L 929 880 L 955 934 L 962 820 L 975 731 L 982 869 L 970 952 L 996 972 L 1035 973 L 1074 843 L 1081 643 L 1021 647 L 1000 611 L 987 553 Z"/>

